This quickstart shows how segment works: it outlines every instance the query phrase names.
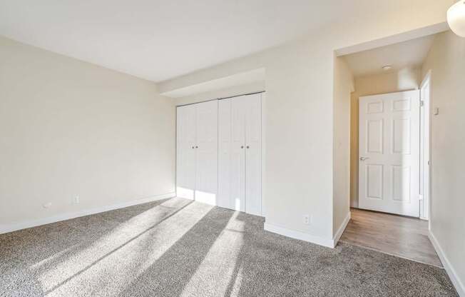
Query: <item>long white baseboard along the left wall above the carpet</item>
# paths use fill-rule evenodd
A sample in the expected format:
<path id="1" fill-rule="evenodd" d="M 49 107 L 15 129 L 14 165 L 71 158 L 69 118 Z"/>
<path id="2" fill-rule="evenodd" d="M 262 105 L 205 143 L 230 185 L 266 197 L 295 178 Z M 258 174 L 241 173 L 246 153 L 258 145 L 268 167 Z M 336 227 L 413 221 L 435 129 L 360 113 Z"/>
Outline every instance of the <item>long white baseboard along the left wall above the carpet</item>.
<path id="1" fill-rule="evenodd" d="M 59 221 L 65 221 L 70 218 L 78 218 L 80 216 L 88 216 L 91 214 L 95 213 L 103 213 L 104 211 L 113 211 L 118 208 L 125 208 L 128 206 L 134 206 L 137 204 L 142 204 L 142 203 L 148 203 L 151 201 L 157 201 L 165 198 L 173 198 L 176 196 L 176 193 L 165 193 L 157 196 L 151 196 L 148 198 L 142 198 L 138 200 L 133 200 L 133 201 L 128 201 L 128 202 L 123 202 L 123 203 L 116 203 L 113 205 L 109 206 L 102 206 L 98 208 L 91 208 L 91 209 L 86 209 L 83 211 L 75 211 L 75 212 L 69 212 L 69 213 L 63 213 L 59 214 L 56 216 L 49 216 L 48 218 L 39 218 L 36 220 L 31 220 L 31 221 L 22 221 L 18 223 L 11 223 L 11 224 L 4 224 L 0 225 L 0 234 L 2 233 L 9 233 L 12 231 L 18 231 L 21 229 L 26 229 L 26 228 L 31 228 L 31 227 L 36 227 L 36 226 L 41 226 L 41 225 L 46 225 L 48 223 L 56 223 Z"/>

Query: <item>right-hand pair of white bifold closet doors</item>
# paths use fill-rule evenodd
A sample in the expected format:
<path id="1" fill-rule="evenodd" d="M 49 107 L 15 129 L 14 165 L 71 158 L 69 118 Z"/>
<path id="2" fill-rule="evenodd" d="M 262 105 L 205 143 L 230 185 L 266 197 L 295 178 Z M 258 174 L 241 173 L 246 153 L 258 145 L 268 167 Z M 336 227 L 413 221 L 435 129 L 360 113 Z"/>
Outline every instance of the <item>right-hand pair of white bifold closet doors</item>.
<path id="1" fill-rule="evenodd" d="M 220 100 L 218 205 L 261 215 L 261 94 Z"/>

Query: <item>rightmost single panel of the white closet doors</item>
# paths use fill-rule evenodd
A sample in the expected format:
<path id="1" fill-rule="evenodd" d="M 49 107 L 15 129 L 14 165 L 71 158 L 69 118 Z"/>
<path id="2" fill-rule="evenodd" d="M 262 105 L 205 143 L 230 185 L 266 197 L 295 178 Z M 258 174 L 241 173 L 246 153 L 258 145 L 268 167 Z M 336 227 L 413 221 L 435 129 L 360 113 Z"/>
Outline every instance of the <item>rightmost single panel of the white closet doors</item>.
<path id="1" fill-rule="evenodd" d="M 245 211 L 262 214 L 262 94 L 247 96 L 245 103 Z"/>

